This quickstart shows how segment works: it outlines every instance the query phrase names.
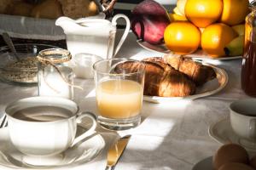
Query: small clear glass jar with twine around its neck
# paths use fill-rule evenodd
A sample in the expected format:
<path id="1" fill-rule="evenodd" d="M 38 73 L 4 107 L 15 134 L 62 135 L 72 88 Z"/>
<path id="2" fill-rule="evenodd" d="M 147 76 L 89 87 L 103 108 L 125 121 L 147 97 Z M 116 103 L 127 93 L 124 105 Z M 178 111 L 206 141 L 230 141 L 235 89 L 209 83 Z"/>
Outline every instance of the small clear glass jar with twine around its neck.
<path id="1" fill-rule="evenodd" d="M 71 54 L 66 49 L 49 48 L 38 54 L 38 95 L 73 99 Z"/>

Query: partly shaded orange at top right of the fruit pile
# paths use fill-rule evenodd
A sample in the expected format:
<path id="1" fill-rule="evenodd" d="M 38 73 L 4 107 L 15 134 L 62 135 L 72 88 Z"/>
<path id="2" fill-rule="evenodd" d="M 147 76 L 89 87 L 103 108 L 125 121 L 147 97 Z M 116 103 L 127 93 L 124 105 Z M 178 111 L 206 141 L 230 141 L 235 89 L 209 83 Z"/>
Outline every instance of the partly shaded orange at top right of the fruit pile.
<path id="1" fill-rule="evenodd" d="M 230 25 L 238 25 L 244 22 L 249 12 L 248 0 L 223 0 L 223 12 L 220 21 Z"/>

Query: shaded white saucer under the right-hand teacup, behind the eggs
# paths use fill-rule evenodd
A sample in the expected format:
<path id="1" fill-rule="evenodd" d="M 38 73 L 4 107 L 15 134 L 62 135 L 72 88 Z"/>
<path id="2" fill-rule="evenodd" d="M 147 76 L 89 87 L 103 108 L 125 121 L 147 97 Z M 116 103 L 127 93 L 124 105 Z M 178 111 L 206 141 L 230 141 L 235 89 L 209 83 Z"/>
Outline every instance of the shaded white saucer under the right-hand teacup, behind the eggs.
<path id="1" fill-rule="evenodd" d="M 212 139 L 215 139 L 217 142 L 221 144 L 227 144 L 227 143 L 241 144 L 239 142 L 240 138 L 236 135 L 236 133 L 233 131 L 231 127 L 229 117 L 226 117 L 216 123 L 213 123 L 209 127 L 208 133 L 212 137 Z M 253 149 L 243 144 L 242 146 L 249 152 L 256 152 L 256 148 Z"/>

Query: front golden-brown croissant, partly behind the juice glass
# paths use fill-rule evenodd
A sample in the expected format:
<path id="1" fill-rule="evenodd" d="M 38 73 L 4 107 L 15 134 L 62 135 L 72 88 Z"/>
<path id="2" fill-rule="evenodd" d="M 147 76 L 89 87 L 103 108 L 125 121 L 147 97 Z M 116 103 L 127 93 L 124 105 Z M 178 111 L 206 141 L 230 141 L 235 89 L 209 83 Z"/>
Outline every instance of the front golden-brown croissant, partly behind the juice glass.
<path id="1" fill-rule="evenodd" d="M 195 83 L 183 73 L 163 62 L 143 61 L 145 67 L 144 95 L 161 97 L 183 97 L 195 94 Z M 114 71 L 135 72 L 140 64 L 126 61 L 116 65 Z"/>

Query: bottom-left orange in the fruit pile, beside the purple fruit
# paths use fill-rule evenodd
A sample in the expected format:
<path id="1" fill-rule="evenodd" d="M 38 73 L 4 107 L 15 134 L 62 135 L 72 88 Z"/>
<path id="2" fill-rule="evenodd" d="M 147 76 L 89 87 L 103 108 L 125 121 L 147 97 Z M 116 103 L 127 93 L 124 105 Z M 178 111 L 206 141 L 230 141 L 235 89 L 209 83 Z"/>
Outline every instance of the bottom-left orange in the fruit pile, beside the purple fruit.
<path id="1" fill-rule="evenodd" d="M 164 40 L 175 54 L 191 54 L 200 45 L 201 31 L 189 21 L 174 21 L 166 27 Z"/>

